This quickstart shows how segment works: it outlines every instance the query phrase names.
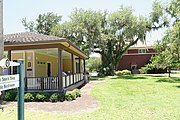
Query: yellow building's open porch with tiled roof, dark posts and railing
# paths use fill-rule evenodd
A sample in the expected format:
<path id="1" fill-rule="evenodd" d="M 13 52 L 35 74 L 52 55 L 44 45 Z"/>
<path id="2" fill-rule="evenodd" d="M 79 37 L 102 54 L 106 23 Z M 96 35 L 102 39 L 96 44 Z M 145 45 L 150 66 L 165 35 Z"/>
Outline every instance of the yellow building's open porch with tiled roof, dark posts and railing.
<path id="1" fill-rule="evenodd" d="M 67 39 L 24 32 L 5 35 L 4 40 L 9 60 L 23 61 L 25 91 L 63 92 L 87 82 L 88 56 Z M 15 74 L 16 68 L 8 73 Z"/>

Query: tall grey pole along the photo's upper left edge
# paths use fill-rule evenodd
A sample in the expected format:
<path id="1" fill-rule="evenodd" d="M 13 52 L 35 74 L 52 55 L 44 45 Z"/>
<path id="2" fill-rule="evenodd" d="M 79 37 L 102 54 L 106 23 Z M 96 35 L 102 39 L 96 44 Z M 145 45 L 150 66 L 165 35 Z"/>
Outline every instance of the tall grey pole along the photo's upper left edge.
<path id="1" fill-rule="evenodd" d="M 3 40 L 3 0 L 0 0 L 0 60 L 4 57 L 4 40 Z M 3 69 L 0 67 L 0 75 Z"/>

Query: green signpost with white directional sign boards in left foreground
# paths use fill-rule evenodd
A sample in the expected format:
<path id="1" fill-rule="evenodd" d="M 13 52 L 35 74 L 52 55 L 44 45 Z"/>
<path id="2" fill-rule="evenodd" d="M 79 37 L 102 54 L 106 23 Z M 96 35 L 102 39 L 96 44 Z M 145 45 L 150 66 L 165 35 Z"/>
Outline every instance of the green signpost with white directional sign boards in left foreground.
<path id="1" fill-rule="evenodd" d="M 0 76 L 0 92 L 13 88 L 18 88 L 18 120 L 24 120 L 24 80 L 22 76 L 23 61 L 11 62 L 8 59 L 0 61 L 1 68 L 9 68 L 10 66 L 18 66 L 19 74 Z"/>

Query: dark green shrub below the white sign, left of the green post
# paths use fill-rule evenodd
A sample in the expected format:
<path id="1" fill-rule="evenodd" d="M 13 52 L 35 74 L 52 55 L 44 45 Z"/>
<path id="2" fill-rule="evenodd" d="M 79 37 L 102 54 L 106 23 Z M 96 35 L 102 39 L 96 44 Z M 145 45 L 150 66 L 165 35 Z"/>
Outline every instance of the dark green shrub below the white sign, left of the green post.
<path id="1" fill-rule="evenodd" d="M 16 98 L 16 92 L 15 91 L 7 91 L 4 95 L 4 100 L 6 101 L 14 101 Z"/>

